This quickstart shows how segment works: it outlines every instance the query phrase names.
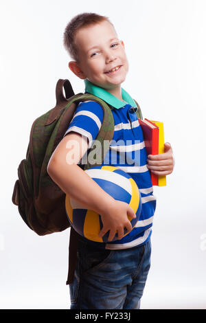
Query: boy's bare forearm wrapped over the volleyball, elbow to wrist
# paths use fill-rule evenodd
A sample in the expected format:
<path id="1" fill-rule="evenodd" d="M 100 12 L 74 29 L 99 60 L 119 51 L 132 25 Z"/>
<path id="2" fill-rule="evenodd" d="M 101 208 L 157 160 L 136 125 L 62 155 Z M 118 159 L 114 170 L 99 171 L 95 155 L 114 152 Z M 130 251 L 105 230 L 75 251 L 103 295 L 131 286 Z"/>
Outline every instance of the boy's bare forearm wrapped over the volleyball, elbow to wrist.
<path id="1" fill-rule="evenodd" d="M 65 194 L 98 214 L 106 211 L 113 197 L 104 192 L 82 168 L 76 164 L 52 161 L 47 169 L 49 176 Z"/>

